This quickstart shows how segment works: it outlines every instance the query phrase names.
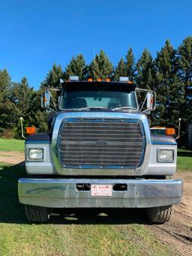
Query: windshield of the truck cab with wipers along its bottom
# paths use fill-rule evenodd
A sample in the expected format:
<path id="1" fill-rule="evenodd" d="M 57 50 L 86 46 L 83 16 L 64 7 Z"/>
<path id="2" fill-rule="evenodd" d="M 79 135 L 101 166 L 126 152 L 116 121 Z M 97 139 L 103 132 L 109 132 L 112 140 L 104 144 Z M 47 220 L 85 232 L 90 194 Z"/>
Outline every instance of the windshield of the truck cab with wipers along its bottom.
<path id="1" fill-rule="evenodd" d="M 115 91 L 94 91 L 94 90 L 75 90 L 63 91 L 60 101 L 60 109 L 81 109 L 86 107 L 98 107 L 115 109 L 127 107 L 137 109 L 136 95 L 131 92 Z"/>

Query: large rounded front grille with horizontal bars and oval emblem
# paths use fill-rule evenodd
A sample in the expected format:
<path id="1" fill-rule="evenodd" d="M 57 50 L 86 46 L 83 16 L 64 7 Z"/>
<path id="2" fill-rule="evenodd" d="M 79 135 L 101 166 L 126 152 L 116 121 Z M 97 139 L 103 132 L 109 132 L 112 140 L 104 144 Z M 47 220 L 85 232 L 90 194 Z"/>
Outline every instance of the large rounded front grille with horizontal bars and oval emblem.
<path id="1" fill-rule="evenodd" d="M 58 136 L 63 167 L 136 168 L 144 150 L 138 119 L 65 119 Z"/>

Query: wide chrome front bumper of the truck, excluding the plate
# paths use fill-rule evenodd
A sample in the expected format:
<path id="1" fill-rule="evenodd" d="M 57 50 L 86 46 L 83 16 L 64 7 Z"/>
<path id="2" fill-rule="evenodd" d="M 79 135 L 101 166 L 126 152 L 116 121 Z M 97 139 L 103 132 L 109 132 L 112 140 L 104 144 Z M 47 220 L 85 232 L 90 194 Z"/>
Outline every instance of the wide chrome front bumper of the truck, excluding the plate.
<path id="1" fill-rule="evenodd" d="M 111 197 L 92 197 L 79 191 L 77 183 L 127 184 L 126 191 Z M 51 208 L 145 208 L 181 203 L 182 181 L 178 179 L 20 179 L 20 203 Z"/>

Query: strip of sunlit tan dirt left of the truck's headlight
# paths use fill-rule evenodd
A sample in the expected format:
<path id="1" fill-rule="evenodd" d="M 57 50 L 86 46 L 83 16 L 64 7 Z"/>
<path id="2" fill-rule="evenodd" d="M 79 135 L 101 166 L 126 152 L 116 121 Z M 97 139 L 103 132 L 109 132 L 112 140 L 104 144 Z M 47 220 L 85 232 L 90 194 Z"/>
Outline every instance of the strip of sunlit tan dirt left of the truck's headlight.
<path id="1" fill-rule="evenodd" d="M 0 151 L 0 162 L 7 164 L 20 164 L 24 161 L 24 153 L 17 151 Z"/>

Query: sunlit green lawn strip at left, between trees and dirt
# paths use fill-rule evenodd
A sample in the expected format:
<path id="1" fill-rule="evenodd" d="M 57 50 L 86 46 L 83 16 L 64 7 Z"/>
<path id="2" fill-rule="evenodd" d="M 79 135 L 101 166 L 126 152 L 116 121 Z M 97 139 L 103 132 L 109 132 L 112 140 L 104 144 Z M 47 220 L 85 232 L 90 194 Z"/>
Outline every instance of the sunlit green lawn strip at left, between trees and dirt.
<path id="1" fill-rule="evenodd" d="M 0 151 L 20 151 L 24 150 L 24 140 L 2 139 L 0 138 Z"/>

